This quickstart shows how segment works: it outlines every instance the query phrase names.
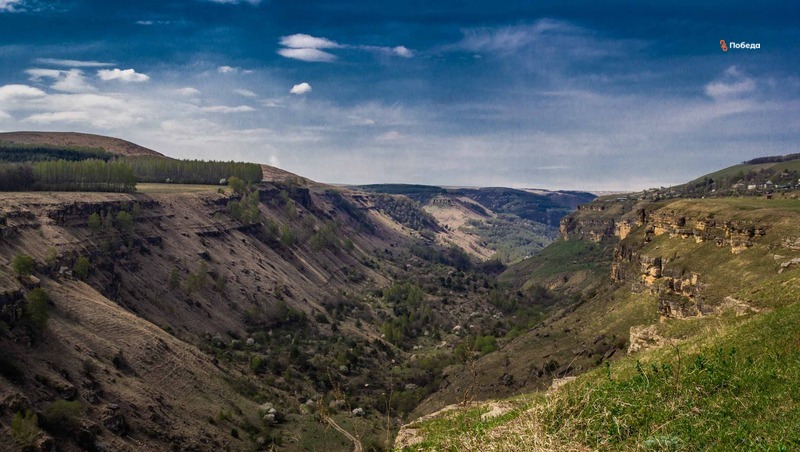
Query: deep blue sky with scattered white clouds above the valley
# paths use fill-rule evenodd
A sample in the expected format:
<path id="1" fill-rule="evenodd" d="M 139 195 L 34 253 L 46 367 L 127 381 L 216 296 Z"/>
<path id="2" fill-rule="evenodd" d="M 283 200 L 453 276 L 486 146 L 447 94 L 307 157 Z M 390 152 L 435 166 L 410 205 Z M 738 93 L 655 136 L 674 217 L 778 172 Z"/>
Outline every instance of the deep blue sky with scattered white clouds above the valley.
<path id="1" fill-rule="evenodd" d="M 798 23 L 794 0 L 0 0 L 0 131 L 328 183 L 669 186 L 800 152 Z"/>

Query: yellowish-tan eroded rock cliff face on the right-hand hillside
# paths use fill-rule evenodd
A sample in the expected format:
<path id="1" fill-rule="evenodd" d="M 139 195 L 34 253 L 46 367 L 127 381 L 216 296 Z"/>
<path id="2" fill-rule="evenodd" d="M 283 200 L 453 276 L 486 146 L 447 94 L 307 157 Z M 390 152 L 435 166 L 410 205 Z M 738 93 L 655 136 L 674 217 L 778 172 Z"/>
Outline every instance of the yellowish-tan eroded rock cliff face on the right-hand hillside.
<path id="1" fill-rule="evenodd" d="M 757 217 L 715 216 L 670 207 L 671 204 L 646 201 L 605 201 L 580 206 L 562 220 L 561 237 L 614 246 L 611 280 L 630 284 L 634 293 L 655 295 L 662 318 L 700 316 L 713 311 L 706 306 L 708 300 L 703 291 L 706 269 L 685 261 L 676 265 L 676 246 L 709 242 L 735 256 L 764 241 L 770 225 Z M 668 247 L 650 246 L 656 239 L 680 242 Z M 794 243 L 790 238 L 781 240 L 789 245 Z M 711 304 L 718 301 L 711 300 Z"/>

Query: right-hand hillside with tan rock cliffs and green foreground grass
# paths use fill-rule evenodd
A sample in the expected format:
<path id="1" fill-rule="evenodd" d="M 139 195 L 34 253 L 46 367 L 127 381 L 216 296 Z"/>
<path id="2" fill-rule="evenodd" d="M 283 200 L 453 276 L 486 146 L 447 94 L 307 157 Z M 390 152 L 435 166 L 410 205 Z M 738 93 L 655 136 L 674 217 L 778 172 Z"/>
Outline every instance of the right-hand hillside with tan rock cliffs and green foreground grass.
<path id="1" fill-rule="evenodd" d="M 544 286 L 567 298 L 496 352 L 447 369 L 442 389 L 415 414 L 528 395 L 422 418 L 401 431 L 399 446 L 800 444 L 791 427 L 800 419 L 791 395 L 800 369 L 791 327 L 800 293 L 797 193 L 623 198 L 582 206 L 562 220 L 561 240 L 501 276 L 511 287 Z M 535 392 L 575 376 L 552 395 Z M 734 420 L 741 410 L 753 417 Z"/>

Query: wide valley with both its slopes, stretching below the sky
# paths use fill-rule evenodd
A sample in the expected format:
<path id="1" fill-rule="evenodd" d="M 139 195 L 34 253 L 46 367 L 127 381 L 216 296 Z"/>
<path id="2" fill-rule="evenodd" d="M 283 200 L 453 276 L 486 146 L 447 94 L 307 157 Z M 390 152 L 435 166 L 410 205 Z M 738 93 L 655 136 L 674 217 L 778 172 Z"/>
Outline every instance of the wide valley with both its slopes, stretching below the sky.
<path id="1" fill-rule="evenodd" d="M 25 137 L 39 156 L 137 158 Z M 793 162 L 767 164 L 788 180 Z M 0 195 L 10 450 L 800 441 L 800 200 L 758 179 L 764 162 L 752 190 L 744 165 L 597 199 L 191 165 L 221 183 Z M 731 427 L 735 401 L 754 423 Z"/>

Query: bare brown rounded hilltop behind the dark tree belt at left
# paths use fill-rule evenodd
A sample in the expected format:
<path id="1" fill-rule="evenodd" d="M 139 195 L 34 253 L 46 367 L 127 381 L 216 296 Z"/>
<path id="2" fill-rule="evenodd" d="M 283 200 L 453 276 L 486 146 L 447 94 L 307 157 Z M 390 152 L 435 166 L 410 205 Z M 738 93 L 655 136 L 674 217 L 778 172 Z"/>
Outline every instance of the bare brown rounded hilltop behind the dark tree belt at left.
<path id="1" fill-rule="evenodd" d="M 76 132 L 5 132 L 0 143 L 47 145 L 78 148 L 101 148 L 123 157 L 164 157 L 163 154 L 119 138 Z"/>

